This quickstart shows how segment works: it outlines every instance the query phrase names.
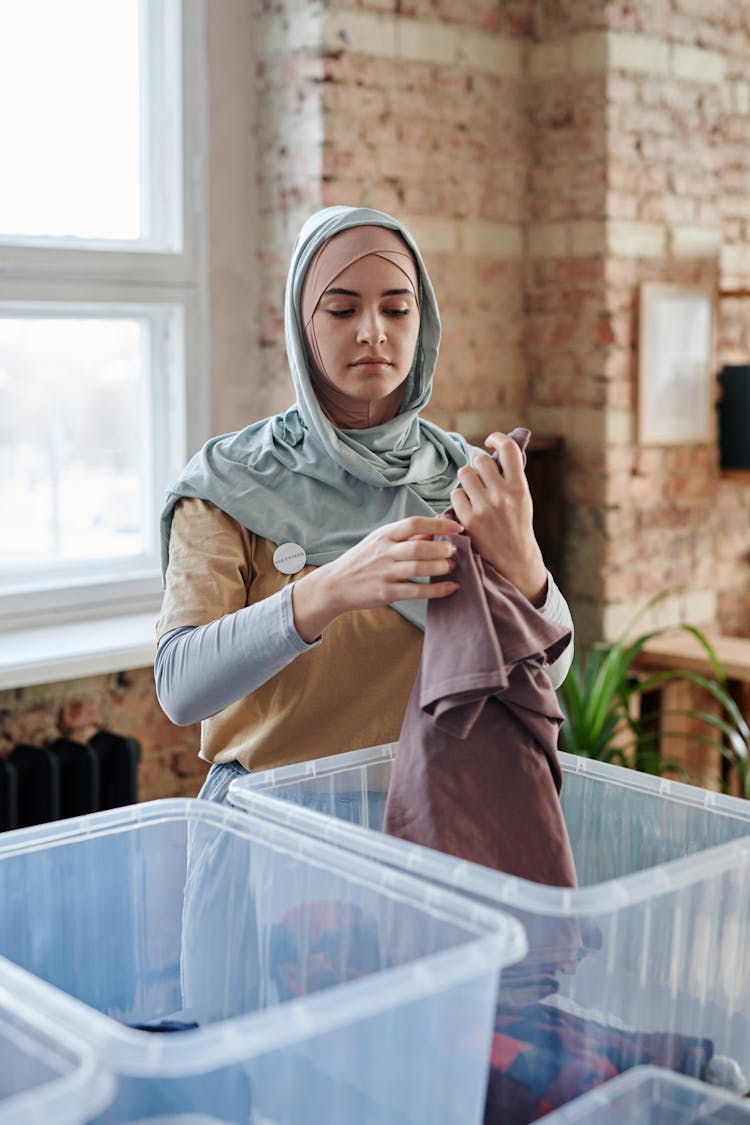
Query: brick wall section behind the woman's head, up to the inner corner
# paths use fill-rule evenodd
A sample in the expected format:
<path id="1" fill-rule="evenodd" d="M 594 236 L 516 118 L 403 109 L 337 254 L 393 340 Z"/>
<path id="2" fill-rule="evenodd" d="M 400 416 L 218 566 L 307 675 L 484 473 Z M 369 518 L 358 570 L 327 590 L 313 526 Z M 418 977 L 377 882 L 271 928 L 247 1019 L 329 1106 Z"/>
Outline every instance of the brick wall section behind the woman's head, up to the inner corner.
<path id="1" fill-rule="evenodd" d="M 281 295 L 293 234 L 316 206 L 343 202 L 398 215 L 419 242 L 444 320 L 430 416 L 470 433 L 513 424 L 525 399 L 525 6 L 269 4 L 263 26 L 263 380 L 274 403 L 289 400 Z M 307 166 L 289 135 L 304 138 Z"/>

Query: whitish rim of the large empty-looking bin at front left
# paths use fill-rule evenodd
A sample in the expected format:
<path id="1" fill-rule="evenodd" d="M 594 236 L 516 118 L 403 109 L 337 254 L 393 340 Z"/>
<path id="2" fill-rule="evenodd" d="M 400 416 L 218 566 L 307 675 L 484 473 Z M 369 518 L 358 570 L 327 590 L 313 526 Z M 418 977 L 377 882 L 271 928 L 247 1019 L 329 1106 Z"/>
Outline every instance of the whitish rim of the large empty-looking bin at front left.
<path id="1" fill-rule="evenodd" d="M 6 834 L 9 843 L 0 846 L 0 863 L 15 855 L 43 850 L 49 846 L 81 843 L 98 835 L 132 830 L 147 824 L 186 820 L 190 816 L 225 827 L 247 839 L 281 847 L 306 863 L 325 862 L 350 881 L 364 882 L 373 890 L 400 898 L 413 909 L 440 914 L 443 920 L 463 927 L 466 939 L 451 948 L 415 957 L 405 965 L 385 969 L 371 976 L 347 981 L 322 992 L 287 1001 L 275 1008 L 246 1012 L 180 1036 L 154 1036 L 117 1023 L 75 997 L 35 976 L 0 956 L 0 983 L 35 1004 L 55 1024 L 72 1028 L 93 1042 L 99 1056 L 105 1046 L 116 1046 L 116 1062 L 105 1061 L 116 1072 L 133 1074 L 184 1076 L 201 1073 L 226 1060 L 250 1054 L 265 1054 L 278 1046 L 298 1042 L 315 1027 L 316 1034 L 367 1018 L 398 1004 L 433 994 L 435 986 L 446 988 L 467 983 L 521 961 L 527 950 L 521 922 L 501 910 L 475 903 L 450 888 L 435 886 L 403 870 L 382 866 L 377 861 L 352 855 L 342 847 L 318 840 L 309 834 L 295 834 L 264 816 L 249 818 L 240 809 L 174 798 L 94 812 L 85 817 L 55 821 Z M 29 847 L 29 844 L 33 844 Z M 363 1001 L 365 1004 L 363 1005 Z M 179 1043 L 174 1042 L 179 1040 Z M 192 1045 L 192 1050 L 189 1050 Z"/>

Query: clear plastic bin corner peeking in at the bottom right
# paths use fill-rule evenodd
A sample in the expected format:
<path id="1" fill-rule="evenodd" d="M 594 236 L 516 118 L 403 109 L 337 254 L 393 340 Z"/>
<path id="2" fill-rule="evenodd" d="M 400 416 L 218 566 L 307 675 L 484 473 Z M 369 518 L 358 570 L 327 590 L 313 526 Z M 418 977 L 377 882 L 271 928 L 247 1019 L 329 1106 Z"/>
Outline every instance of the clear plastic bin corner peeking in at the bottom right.
<path id="1" fill-rule="evenodd" d="M 544 1125 L 750 1125 L 750 1102 L 659 1066 L 635 1066 L 555 1109 Z"/>

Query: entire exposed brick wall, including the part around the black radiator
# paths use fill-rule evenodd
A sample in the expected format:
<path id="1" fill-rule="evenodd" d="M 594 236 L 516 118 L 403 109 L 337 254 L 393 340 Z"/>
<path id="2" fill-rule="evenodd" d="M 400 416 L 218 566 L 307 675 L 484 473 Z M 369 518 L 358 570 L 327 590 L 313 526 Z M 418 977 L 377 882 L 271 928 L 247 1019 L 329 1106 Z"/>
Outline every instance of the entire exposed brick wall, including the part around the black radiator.
<path id="1" fill-rule="evenodd" d="M 715 442 L 639 447 L 636 345 L 641 282 L 750 288 L 750 2 L 259 0 L 256 16 L 257 346 L 214 369 L 215 404 L 243 413 L 219 429 L 290 402 L 301 220 L 394 212 L 443 314 L 430 416 L 566 440 L 579 640 L 672 587 L 659 620 L 749 633 L 750 485 L 720 476 Z M 720 303 L 717 367 L 750 356 L 749 308 Z M 197 731 L 164 719 L 145 669 L 4 693 L 2 737 L 54 734 L 76 706 L 139 738 L 144 798 L 197 788 Z"/>

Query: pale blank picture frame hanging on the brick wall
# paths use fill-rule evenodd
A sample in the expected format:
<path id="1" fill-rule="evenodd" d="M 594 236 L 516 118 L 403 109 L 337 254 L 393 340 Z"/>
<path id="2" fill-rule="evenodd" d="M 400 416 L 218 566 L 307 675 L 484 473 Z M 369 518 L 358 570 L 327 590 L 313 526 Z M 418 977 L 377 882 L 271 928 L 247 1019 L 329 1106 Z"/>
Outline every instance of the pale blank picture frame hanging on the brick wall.
<path id="1" fill-rule="evenodd" d="M 707 286 L 641 285 L 640 444 L 714 440 L 714 308 L 715 294 Z"/>

